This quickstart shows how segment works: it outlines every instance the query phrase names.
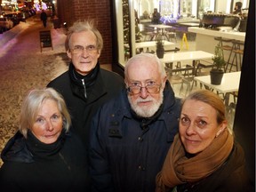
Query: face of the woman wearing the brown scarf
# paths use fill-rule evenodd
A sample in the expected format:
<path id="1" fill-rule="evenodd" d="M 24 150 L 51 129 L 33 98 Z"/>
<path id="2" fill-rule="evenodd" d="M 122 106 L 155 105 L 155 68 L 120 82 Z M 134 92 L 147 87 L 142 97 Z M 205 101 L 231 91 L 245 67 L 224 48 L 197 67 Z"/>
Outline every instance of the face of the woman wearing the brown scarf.
<path id="1" fill-rule="evenodd" d="M 180 139 L 189 154 L 197 154 L 211 145 L 227 123 L 217 123 L 217 111 L 199 100 L 186 100 L 180 115 Z"/>

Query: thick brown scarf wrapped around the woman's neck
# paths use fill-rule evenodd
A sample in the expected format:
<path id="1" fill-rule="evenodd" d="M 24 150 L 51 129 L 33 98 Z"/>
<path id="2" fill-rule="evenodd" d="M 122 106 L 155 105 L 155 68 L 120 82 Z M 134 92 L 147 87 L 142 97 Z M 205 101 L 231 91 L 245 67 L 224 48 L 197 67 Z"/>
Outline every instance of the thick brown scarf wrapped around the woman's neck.
<path id="1" fill-rule="evenodd" d="M 156 176 L 156 191 L 167 191 L 186 182 L 196 182 L 215 172 L 223 164 L 233 148 L 233 136 L 226 129 L 210 146 L 191 158 L 186 155 L 180 134 L 172 143 L 161 172 Z"/>

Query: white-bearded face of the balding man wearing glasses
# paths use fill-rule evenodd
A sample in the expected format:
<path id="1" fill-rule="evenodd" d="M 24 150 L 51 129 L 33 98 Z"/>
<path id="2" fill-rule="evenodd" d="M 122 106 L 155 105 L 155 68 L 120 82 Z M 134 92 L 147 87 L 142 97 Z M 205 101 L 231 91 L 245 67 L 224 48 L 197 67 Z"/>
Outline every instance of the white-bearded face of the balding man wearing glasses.
<path id="1" fill-rule="evenodd" d="M 136 65 L 140 62 L 140 65 Z M 153 116 L 164 100 L 165 77 L 161 79 L 157 65 L 151 60 L 140 60 L 132 63 L 128 68 L 126 87 L 140 90 L 132 94 L 128 92 L 133 111 L 142 117 Z M 148 86 L 148 90 L 146 88 Z M 150 93 L 151 92 L 151 93 Z"/>

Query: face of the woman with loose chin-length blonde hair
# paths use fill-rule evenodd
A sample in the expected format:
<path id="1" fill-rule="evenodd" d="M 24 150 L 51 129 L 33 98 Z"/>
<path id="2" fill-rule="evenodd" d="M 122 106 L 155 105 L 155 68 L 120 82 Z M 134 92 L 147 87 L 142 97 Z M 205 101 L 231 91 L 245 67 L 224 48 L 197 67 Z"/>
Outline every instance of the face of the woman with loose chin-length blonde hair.
<path id="1" fill-rule="evenodd" d="M 38 140 L 50 144 L 55 142 L 62 131 L 62 116 L 54 100 L 44 100 L 39 109 L 31 132 Z"/>

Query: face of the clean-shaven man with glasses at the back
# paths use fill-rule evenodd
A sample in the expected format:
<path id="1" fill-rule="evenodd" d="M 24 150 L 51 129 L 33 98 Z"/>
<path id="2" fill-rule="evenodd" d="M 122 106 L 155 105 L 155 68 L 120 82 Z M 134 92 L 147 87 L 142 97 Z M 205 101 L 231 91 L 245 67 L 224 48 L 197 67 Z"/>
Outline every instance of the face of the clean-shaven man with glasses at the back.
<path id="1" fill-rule="evenodd" d="M 67 52 L 68 57 L 72 60 L 77 73 L 83 76 L 87 75 L 95 68 L 100 57 L 96 36 L 92 31 L 74 33 L 70 36 L 69 45 L 70 50 Z M 77 53 L 77 50 L 80 51 Z"/>

